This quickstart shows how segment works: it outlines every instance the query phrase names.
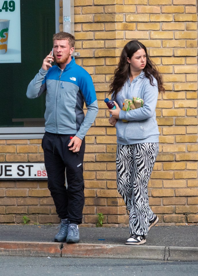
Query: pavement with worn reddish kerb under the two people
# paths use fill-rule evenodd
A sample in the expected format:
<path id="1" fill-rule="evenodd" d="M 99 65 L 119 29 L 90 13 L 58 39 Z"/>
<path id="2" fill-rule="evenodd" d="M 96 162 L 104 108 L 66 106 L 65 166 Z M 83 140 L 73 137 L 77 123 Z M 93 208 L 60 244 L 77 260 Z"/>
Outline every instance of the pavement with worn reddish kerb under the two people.
<path id="1" fill-rule="evenodd" d="M 126 246 L 126 227 L 80 227 L 80 243 L 54 243 L 58 225 L 0 225 L 0 255 L 198 260 L 198 225 L 154 226 L 146 244 Z"/>

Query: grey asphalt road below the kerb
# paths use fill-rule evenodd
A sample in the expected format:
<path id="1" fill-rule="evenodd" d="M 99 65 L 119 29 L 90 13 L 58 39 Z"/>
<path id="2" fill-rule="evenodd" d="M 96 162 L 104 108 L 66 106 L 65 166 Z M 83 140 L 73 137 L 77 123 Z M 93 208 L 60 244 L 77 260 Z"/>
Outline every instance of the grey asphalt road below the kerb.
<path id="1" fill-rule="evenodd" d="M 197 276 L 198 262 L 0 256 L 0 276 Z"/>

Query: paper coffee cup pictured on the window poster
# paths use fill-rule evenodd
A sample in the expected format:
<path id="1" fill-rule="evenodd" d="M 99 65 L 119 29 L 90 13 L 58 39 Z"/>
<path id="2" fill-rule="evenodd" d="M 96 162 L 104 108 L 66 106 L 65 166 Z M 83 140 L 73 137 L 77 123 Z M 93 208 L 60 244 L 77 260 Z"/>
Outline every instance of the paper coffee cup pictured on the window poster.
<path id="1" fill-rule="evenodd" d="M 0 19 L 0 55 L 7 52 L 9 21 L 8 19 Z"/>

